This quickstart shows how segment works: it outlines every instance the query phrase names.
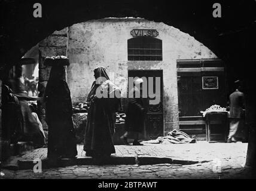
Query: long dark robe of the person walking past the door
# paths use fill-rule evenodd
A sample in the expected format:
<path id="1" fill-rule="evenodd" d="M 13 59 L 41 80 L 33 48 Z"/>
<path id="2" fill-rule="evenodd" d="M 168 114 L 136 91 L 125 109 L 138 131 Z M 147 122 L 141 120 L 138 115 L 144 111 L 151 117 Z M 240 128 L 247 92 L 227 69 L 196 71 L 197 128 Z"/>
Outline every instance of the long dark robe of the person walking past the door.
<path id="1" fill-rule="evenodd" d="M 136 91 L 138 91 L 136 88 L 132 90 L 133 97 L 135 97 Z M 133 132 L 142 133 L 144 131 L 145 114 L 142 108 L 144 108 L 142 98 L 129 98 L 125 124 L 125 130 L 130 135 L 128 135 L 129 138 L 133 138 Z"/>

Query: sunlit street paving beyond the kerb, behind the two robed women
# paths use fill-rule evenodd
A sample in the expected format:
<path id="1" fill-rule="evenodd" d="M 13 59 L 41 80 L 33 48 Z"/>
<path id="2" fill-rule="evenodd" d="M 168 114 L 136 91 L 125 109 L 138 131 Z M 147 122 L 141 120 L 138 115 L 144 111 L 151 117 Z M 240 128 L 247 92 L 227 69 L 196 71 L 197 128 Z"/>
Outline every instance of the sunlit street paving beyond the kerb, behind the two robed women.
<path id="1" fill-rule="evenodd" d="M 157 156 L 170 157 L 182 161 L 211 161 L 216 158 L 245 159 L 247 143 L 208 143 L 198 141 L 188 144 L 144 144 L 144 146 L 116 145 L 115 156 Z M 78 156 L 85 156 L 83 145 L 77 145 Z M 44 159 L 47 148 L 35 149 L 21 156 L 22 160 Z"/>

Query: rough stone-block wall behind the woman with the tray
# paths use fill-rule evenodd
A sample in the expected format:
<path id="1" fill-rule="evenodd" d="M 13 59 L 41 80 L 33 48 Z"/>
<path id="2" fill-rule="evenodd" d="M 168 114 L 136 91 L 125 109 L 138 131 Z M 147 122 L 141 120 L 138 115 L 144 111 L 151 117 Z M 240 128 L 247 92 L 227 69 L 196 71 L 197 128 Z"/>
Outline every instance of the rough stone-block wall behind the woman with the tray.
<path id="1" fill-rule="evenodd" d="M 66 56 L 67 45 L 67 31 L 68 28 L 60 31 L 55 31 L 52 35 L 39 42 L 39 82 L 38 91 L 39 97 L 44 96 L 44 90 L 50 75 L 51 67 L 44 66 L 45 57 L 51 56 Z M 45 106 L 42 101 L 38 101 L 39 119 L 42 122 L 44 130 L 47 130 L 45 122 Z"/>

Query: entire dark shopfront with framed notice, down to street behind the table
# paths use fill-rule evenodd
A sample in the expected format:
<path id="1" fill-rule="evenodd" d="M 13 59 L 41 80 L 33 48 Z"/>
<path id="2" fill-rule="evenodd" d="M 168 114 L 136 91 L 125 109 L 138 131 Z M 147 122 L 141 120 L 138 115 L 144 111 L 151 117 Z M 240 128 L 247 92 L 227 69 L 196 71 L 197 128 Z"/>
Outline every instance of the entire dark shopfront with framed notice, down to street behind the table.
<path id="1" fill-rule="evenodd" d="M 224 63 L 219 59 L 177 60 L 179 128 L 205 140 L 205 119 L 200 111 L 227 106 Z M 212 138 L 224 140 L 225 124 L 212 125 Z"/>

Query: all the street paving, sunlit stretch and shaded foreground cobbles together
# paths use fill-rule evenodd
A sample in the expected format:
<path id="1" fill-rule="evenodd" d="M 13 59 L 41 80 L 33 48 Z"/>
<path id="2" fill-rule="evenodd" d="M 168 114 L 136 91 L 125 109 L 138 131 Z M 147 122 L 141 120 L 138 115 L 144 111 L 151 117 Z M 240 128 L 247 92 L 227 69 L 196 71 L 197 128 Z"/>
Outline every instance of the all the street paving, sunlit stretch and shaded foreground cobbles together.
<path id="1" fill-rule="evenodd" d="M 4 169 L 2 178 L 251 178 L 245 168 L 246 143 L 148 144 L 144 146 L 115 146 L 116 156 L 155 156 L 172 158 L 172 164 L 150 165 L 72 165 L 61 168 L 29 170 Z M 78 145 L 83 156 L 83 146 Z M 46 148 L 36 149 L 22 159 L 44 158 Z M 184 165 L 184 161 L 197 164 Z M 182 163 L 183 162 L 183 163 Z M 183 164 L 183 165 L 182 165 Z"/>

